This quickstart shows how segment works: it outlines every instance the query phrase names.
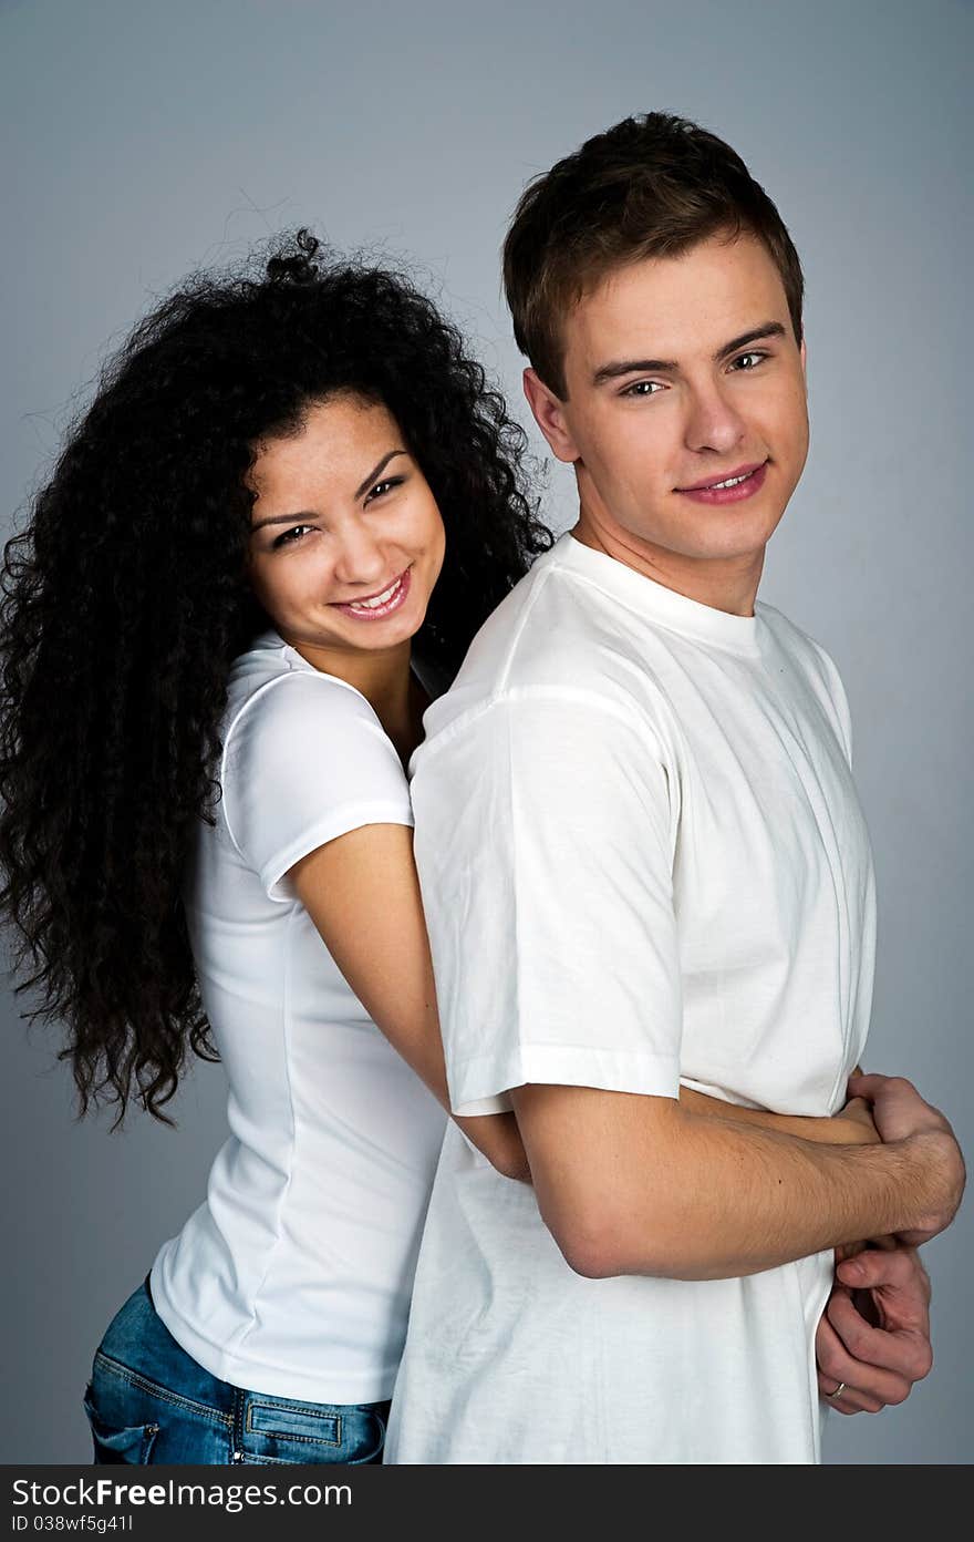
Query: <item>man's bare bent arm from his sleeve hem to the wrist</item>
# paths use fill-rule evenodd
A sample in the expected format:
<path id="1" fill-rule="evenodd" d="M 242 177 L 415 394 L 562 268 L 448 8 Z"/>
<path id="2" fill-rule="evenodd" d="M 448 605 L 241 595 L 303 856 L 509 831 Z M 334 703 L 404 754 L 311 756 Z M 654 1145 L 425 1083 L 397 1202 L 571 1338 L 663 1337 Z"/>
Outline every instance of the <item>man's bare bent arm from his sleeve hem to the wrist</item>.
<path id="1" fill-rule="evenodd" d="M 513 1096 L 541 1214 L 581 1274 L 729 1278 L 946 1224 L 937 1132 L 828 1146 L 666 1098 L 566 1087 Z"/>

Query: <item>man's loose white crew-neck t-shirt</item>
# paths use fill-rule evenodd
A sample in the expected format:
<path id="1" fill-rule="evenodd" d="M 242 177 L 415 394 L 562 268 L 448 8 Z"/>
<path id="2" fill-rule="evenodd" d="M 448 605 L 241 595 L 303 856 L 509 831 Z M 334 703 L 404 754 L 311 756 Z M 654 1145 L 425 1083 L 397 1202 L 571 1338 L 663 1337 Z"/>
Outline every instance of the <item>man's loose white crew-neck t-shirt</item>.
<path id="1" fill-rule="evenodd" d="M 415 839 L 455 1112 L 524 1082 L 845 1101 L 875 899 L 817 643 L 566 535 L 425 728 Z M 814 1462 L 831 1278 L 831 1251 L 747 1278 L 583 1278 L 532 1189 L 450 1124 L 385 1459 Z"/>

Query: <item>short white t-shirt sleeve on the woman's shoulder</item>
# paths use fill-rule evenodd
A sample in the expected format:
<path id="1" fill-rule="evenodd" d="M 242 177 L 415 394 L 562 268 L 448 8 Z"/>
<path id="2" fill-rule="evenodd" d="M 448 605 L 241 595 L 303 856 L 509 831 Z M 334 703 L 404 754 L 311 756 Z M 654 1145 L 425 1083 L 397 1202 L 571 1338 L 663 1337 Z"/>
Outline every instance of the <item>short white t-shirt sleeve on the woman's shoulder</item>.
<path id="1" fill-rule="evenodd" d="M 361 825 L 411 825 L 408 783 L 368 702 L 338 680 L 284 675 L 230 726 L 220 810 L 270 899 L 291 901 L 288 870 Z"/>

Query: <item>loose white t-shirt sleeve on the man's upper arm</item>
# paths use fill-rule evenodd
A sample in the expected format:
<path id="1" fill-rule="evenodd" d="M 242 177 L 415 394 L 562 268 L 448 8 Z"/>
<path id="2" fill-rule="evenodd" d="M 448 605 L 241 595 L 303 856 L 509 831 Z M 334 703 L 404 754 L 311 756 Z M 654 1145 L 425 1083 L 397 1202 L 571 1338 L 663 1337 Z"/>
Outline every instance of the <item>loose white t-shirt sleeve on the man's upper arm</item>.
<path id="1" fill-rule="evenodd" d="M 416 862 L 450 1103 L 526 1082 L 678 1096 L 675 819 L 652 728 L 504 697 L 419 751 Z"/>

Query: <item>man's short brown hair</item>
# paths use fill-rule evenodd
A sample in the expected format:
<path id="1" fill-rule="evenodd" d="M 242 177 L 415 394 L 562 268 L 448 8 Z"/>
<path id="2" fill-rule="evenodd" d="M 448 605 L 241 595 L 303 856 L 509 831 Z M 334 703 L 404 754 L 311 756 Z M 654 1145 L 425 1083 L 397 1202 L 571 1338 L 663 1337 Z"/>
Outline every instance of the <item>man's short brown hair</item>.
<path id="1" fill-rule="evenodd" d="M 515 338 L 563 401 L 563 319 L 613 268 L 678 258 L 747 233 L 767 248 L 801 342 L 801 264 L 781 216 L 741 157 L 670 113 L 626 117 L 586 140 L 521 194 L 504 242 Z"/>

